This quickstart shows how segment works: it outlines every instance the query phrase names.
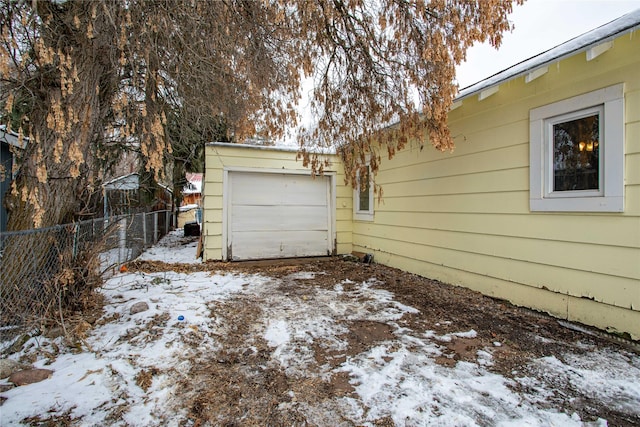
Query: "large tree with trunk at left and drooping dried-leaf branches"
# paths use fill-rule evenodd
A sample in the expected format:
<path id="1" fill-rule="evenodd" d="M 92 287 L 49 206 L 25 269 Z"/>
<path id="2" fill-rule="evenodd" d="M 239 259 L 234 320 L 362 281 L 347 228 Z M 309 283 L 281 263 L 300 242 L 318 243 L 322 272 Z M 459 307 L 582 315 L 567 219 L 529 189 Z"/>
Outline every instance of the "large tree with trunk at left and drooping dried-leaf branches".
<path id="1" fill-rule="evenodd" d="M 428 134 L 451 149 L 454 67 L 473 42 L 498 45 L 511 10 L 504 0 L 0 4 L 4 121 L 29 137 L 7 198 L 10 229 L 72 219 L 114 140 L 137 144 L 161 177 L 168 117 L 220 117 L 238 140 L 281 136 L 296 123 L 305 76 L 317 126 L 301 135 L 300 155 L 315 173 L 323 159 L 309 146 L 337 146 L 352 182 L 367 155 L 375 173 L 379 144 L 392 156 Z"/>

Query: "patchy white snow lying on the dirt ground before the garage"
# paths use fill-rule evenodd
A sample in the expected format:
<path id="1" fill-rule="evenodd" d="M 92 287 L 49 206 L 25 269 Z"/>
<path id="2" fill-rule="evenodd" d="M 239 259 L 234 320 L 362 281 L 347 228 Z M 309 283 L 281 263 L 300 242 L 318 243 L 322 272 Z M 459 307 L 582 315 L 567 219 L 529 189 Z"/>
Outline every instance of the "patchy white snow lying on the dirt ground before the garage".
<path id="1" fill-rule="evenodd" d="M 178 233 L 169 235 L 141 259 L 193 262 L 195 247 L 178 246 L 179 240 Z M 442 366 L 435 358 L 443 354 L 443 343 L 455 337 L 474 338 L 474 330 L 437 335 L 403 327 L 402 317 L 416 310 L 376 287 L 375 279 L 345 280 L 329 290 L 308 286 L 287 291 L 284 286 L 295 280 L 312 281 L 315 274 L 298 272 L 281 279 L 208 272 L 117 274 L 102 288 L 105 313 L 82 350 L 49 359 L 48 350 L 62 347 L 60 338 L 32 338 L 25 346 L 27 352 L 39 354 L 34 367 L 54 374 L 1 393 L 6 400 L 0 406 L 0 425 L 65 412 L 80 418 L 78 425 L 83 426 L 178 425 L 185 420 L 187 408 L 180 406 L 176 378 L 189 371 L 192 353 L 206 355 L 220 349 L 217 337 L 232 325 L 223 324 L 213 307 L 237 297 L 261 304 L 263 317 L 253 325 L 256 340 L 266 341 L 272 351 L 270 363 L 281 366 L 287 375 L 349 375 L 353 395 L 337 396 L 329 403 L 306 402 L 304 396 L 297 396 L 298 409 L 312 425 L 344 424 L 339 420 L 348 420 L 346 425 L 373 425 L 382 417 L 403 426 L 586 425 L 577 414 L 554 408 L 553 396 L 562 384 L 587 389 L 601 401 L 640 413 L 637 355 L 594 350 L 585 356 L 562 355 L 562 360 L 555 356 L 535 360 L 531 369 L 553 377 L 558 390 L 536 378 L 508 379 L 490 372 L 491 349 L 479 351 L 477 363 Z M 138 302 L 146 302 L 149 309 L 131 314 Z M 382 322 L 389 325 L 391 338 L 347 357 L 337 367 L 330 363 L 314 367 L 314 345 L 327 351 L 347 346 L 340 337 L 349 321 Z M 157 375 L 145 385 L 145 374 L 151 371 Z"/>

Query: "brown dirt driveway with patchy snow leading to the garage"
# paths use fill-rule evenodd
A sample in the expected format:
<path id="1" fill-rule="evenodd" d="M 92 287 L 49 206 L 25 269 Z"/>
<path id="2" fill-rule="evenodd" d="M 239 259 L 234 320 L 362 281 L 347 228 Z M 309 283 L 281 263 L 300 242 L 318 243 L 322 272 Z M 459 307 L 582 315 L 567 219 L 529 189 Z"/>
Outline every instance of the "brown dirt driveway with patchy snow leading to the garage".
<path id="1" fill-rule="evenodd" d="M 636 346 L 466 289 L 341 259 L 128 270 L 78 348 L 12 356 L 54 373 L 0 424 L 640 425 Z"/>

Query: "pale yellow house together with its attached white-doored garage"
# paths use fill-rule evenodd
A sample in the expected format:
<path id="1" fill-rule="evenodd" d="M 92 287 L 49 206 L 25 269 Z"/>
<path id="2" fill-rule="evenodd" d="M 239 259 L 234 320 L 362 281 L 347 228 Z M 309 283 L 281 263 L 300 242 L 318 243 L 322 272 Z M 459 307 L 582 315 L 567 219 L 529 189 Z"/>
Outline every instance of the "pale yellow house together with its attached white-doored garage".
<path id="1" fill-rule="evenodd" d="M 334 162 L 206 148 L 204 258 L 376 262 L 640 339 L 640 10 L 461 91 L 456 150 L 409 148 L 370 191 Z"/>

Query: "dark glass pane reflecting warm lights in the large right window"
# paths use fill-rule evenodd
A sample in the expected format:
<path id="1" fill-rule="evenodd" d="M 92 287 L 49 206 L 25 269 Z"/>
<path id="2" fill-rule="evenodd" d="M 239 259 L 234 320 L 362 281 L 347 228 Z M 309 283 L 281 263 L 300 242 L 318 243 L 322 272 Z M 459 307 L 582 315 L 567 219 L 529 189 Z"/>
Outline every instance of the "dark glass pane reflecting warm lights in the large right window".
<path id="1" fill-rule="evenodd" d="M 600 114 L 553 125 L 553 191 L 599 190 Z"/>

